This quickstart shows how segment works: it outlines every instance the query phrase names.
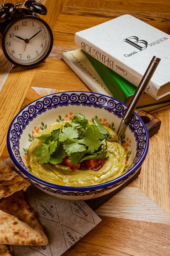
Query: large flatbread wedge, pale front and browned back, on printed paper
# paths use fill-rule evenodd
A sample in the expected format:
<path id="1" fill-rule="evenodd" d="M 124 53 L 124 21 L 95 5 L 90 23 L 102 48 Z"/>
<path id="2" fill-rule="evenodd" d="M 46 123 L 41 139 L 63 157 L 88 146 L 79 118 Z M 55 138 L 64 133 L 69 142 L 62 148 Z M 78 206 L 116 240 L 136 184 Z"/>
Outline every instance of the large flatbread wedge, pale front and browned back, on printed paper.
<path id="1" fill-rule="evenodd" d="M 8 245 L 47 245 L 48 238 L 23 191 L 15 192 L 0 203 L 0 243 Z"/>

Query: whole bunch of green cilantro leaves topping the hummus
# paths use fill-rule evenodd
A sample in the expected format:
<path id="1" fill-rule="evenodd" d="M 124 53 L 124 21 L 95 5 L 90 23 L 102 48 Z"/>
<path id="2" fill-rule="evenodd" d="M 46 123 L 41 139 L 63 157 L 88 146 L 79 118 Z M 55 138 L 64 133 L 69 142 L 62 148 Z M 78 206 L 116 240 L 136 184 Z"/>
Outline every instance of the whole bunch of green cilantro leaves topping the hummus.
<path id="1" fill-rule="evenodd" d="M 66 122 L 50 134 L 36 137 L 42 146 L 34 150 L 34 155 L 41 164 L 59 164 L 66 156 L 73 165 L 86 159 L 106 159 L 109 136 L 96 117 L 93 124 L 88 124 L 84 115 L 75 113 L 71 123 Z"/>

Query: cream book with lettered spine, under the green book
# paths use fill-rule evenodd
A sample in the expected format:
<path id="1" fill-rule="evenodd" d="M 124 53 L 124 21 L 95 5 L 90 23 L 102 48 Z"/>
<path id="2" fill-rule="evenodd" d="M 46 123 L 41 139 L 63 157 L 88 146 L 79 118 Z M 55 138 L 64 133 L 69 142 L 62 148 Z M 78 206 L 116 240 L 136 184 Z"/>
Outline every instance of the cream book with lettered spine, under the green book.
<path id="1" fill-rule="evenodd" d="M 62 59 L 69 67 L 71 67 L 75 74 L 82 79 L 92 92 L 113 97 L 113 94 L 108 90 L 104 81 L 100 78 L 93 65 L 91 65 L 90 61 L 88 61 L 80 49 L 63 52 Z"/>

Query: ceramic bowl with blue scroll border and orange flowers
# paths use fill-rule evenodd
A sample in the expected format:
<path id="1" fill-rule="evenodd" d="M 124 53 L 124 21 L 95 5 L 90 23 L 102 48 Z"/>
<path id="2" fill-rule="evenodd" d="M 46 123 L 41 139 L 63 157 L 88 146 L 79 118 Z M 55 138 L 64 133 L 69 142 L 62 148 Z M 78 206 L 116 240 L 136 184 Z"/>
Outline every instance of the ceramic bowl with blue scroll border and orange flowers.
<path id="1" fill-rule="evenodd" d="M 56 121 L 70 120 L 75 112 L 88 120 L 95 116 L 117 130 L 126 105 L 116 99 L 92 92 L 62 92 L 33 101 L 15 116 L 7 134 L 9 156 L 22 177 L 42 191 L 58 198 L 87 200 L 106 195 L 137 173 L 148 152 L 149 137 L 141 118 L 134 113 L 123 135 L 128 150 L 128 171 L 109 182 L 94 186 L 71 187 L 46 182 L 32 175 L 26 163 L 27 148 L 33 138 Z"/>

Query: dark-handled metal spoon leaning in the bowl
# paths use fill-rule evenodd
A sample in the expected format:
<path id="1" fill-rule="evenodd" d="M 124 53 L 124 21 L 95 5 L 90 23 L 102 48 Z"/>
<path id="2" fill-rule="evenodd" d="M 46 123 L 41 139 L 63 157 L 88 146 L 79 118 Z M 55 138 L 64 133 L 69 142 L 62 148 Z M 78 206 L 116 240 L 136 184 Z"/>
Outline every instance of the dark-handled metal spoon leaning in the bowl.
<path id="1" fill-rule="evenodd" d="M 141 79 L 141 82 L 139 83 L 139 85 L 137 87 L 137 90 L 135 91 L 134 96 L 132 97 L 128 107 L 126 108 L 126 111 L 121 119 L 120 124 L 119 124 L 117 134 L 115 135 L 115 137 L 110 138 L 107 141 L 111 141 L 111 142 L 116 141 L 119 144 L 121 144 L 121 139 L 120 139 L 121 132 L 123 131 L 123 129 L 126 126 L 126 124 L 128 123 L 128 121 L 130 120 L 130 117 L 131 117 L 132 113 L 134 112 L 135 108 L 137 107 L 137 104 L 138 104 L 141 96 L 143 95 L 160 60 L 161 60 L 160 58 L 153 56 L 152 61 L 150 62 L 143 78 Z"/>

